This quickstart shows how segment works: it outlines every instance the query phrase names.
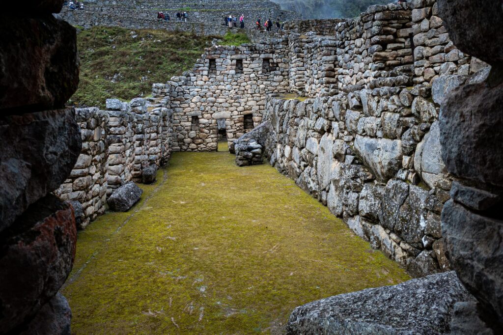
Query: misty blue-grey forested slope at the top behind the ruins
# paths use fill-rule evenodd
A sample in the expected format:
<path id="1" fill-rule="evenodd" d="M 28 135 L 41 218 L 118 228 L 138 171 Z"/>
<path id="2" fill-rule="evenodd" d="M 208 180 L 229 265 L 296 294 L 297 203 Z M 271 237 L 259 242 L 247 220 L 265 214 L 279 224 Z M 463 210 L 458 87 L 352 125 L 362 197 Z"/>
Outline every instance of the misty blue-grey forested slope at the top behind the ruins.
<path id="1" fill-rule="evenodd" d="M 301 13 L 304 19 L 354 18 L 370 5 L 386 5 L 394 0 L 272 0 L 284 10 Z"/>

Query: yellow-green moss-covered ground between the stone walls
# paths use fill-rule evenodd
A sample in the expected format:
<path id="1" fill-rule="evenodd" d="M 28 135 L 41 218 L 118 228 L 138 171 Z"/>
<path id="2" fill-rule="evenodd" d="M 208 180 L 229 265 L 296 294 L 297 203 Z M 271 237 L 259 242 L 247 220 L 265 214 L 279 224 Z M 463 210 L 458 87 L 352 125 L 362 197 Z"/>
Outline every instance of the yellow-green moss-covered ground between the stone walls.
<path id="1" fill-rule="evenodd" d="M 281 333 L 298 305 L 408 279 L 270 165 L 174 153 L 142 188 L 78 234 L 72 333 Z"/>

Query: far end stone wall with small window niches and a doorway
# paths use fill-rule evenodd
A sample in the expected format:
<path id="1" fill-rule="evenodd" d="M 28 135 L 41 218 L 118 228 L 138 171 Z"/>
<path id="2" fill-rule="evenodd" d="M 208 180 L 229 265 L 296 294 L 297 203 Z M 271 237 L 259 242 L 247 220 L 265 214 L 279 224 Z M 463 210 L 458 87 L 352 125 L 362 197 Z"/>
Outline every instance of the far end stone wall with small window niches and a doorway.
<path id="1" fill-rule="evenodd" d="M 173 150 L 214 151 L 219 130 L 230 144 L 258 126 L 266 95 L 289 91 L 286 49 L 286 39 L 271 44 L 216 46 L 206 50 L 192 72 L 155 84 L 154 97 L 170 97 Z M 241 71 L 236 62 L 240 62 Z M 247 128 L 245 118 L 251 118 Z"/>

